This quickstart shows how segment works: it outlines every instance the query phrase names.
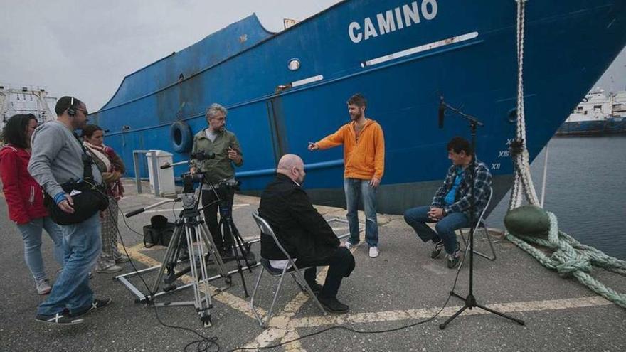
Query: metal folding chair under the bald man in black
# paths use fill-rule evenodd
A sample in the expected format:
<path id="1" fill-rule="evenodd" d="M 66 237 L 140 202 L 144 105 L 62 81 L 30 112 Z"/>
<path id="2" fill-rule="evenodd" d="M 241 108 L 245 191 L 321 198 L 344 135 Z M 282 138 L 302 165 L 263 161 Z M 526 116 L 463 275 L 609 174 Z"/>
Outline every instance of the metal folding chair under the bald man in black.
<path id="1" fill-rule="evenodd" d="M 278 298 L 280 288 L 282 287 L 282 279 L 285 277 L 285 274 L 287 272 L 291 274 L 291 277 L 293 277 L 293 279 L 295 280 L 296 284 L 300 287 L 300 289 L 302 289 L 302 291 L 304 292 L 307 292 L 309 294 L 309 297 L 313 299 L 313 301 L 315 302 L 315 304 L 317 304 L 317 306 L 322 311 L 322 313 L 326 315 L 327 312 L 324 310 L 324 307 L 322 306 L 322 304 L 320 304 L 319 301 L 317 300 L 317 297 L 313 293 L 313 290 L 311 289 L 311 287 L 309 287 L 309 284 L 307 284 L 307 280 L 304 279 L 304 275 L 302 274 L 302 271 L 309 269 L 309 267 L 302 267 L 302 268 L 297 267 L 297 265 L 295 264 L 294 260 L 292 260 L 292 257 L 289 255 L 289 253 L 287 253 L 285 248 L 283 248 L 282 245 L 280 245 L 280 242 L 278 242 L 278 239 L 276 238 L 276 234 L 274 233 L 274 230 L 272 230 L 272 227 L 270 226 L 270 224 L 267 223 L 265 219 L 261 218 L 257 211 L 255 211 L 252 216 L 255 222 L 257 223 L 259 230 L 261 230 L 261 233 L 264 233 L 265 235 L 270 236 L 272 240 L 274 240 L 274 242 L 276 243 L 276 246 L 285 255 L 285 257 L 287 257 L 287 260 L 289 261 L 289 264 L 286 265 L 284 269 L 276 269 L 270 265 L 269 260 L 263 257 L 260 258 L 261 270 L 259 272 L 259 276 L 255 283 L 255 288 L 252 292 L 252 297 L 250 298 L 250 308 L 255 314 L 257 321 L 259 322 L 259 325 L 262 327 L 267 327 L 267 323 L 270 322 L 270 319 L 272 318 L 272 311 L 274 310 L 274 304 L 276 303 L 276 299 Z M 254 299 L 255 299 L 259 284 L 261 282 L 261 277 L 263 276 L 263 272 L 265 271 L 267 271 L 273 277 L 280 277 L 280 279 L 278 280 L 277 287 L 275 287 L 276 293 L 274 294 L 274 299 L 272 299 L 272 306 L 270 306 L 270 311 L 267 312 L 267 317 L 264 322 L 255 309 Z"/>

